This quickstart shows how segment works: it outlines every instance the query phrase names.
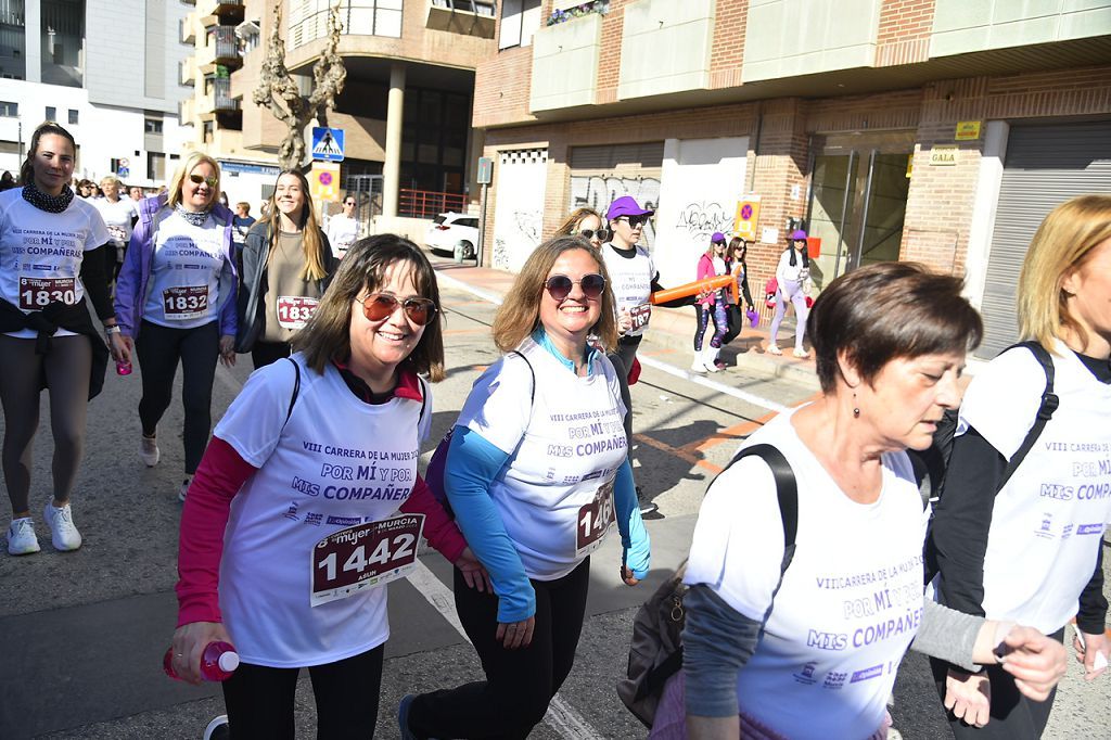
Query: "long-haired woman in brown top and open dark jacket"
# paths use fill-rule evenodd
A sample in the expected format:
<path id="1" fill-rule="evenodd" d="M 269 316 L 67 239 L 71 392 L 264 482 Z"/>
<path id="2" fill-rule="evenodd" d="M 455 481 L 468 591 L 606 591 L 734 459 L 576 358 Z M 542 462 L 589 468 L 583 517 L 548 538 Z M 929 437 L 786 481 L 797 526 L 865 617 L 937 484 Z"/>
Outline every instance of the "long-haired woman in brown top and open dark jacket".
<path id="1" fill-rule="evenodd" d="M 243 243 L 236 351 L 250 352 L 256 369 L 289 357 L 293 334 L 308 323 L 337 267 L 317 226 L 309 181 L 286 170 Z"/>

